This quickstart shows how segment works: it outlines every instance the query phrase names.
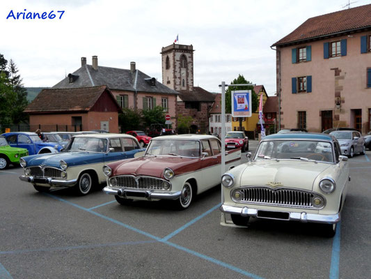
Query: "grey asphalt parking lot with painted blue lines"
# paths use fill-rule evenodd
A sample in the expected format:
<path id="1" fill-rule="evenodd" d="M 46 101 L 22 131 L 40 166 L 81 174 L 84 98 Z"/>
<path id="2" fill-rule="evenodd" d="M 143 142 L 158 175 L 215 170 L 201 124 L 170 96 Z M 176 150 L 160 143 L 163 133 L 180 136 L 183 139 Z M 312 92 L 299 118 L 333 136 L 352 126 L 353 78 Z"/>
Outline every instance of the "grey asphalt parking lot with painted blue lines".
<path id="1" fill-rule="evenodd" d="M 185 211 L 162 201 L 122 206 L 100 189 L 38 193 L 10 167 L 0 171 L 0 278 L 370 278 L 371 151 L 348 162 L 333 239 L 315 224 L 223 227 L 219 187 Z"/>

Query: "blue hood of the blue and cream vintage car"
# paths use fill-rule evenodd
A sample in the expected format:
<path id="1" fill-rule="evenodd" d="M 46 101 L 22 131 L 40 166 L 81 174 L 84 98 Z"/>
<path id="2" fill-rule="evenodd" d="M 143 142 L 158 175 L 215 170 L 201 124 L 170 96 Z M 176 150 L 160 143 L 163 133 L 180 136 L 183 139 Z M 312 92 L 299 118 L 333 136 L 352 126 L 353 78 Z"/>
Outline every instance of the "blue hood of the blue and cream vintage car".
<path id="1" fill-rule="evenodd" d="M 45 153 L 33 156 L 24 157 L 27 167 L 35 165 L 48 165 L 50 167 L 59 167 L 61 160 L 67 163 L 68 167 L 75 165 L 85 165 L 102 162 L 104 153 L 93 152 L 61 152 L 61 153 Z"/>

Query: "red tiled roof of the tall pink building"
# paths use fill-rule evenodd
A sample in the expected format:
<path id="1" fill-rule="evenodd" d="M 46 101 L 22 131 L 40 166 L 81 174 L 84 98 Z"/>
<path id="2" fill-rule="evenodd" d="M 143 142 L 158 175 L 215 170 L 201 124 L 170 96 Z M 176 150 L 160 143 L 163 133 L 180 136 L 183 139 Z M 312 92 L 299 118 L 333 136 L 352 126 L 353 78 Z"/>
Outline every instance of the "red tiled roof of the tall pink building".
<path id="1" fill-rule="evenodd" d="M 272 47 L 368 27 L 371 27 L 371 4 L 311 17 Z"/>

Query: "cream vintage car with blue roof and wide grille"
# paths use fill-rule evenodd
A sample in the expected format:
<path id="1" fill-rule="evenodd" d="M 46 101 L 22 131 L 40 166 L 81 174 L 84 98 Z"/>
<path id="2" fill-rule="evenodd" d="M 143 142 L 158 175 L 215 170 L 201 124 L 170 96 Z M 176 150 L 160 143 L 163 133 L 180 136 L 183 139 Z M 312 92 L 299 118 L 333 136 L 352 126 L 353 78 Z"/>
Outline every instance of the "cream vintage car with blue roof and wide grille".
<path id="1" fill-rule="evenodd" d="M 298 152 L 294 146 L 299 142 L 315 144 L 315 149 Z M 265 137 L 252 162 L 222 176 L 221 225 L 246 226 L 250 217 L 296 220 L 322 223 L 322 233 L 333 236 L 350 179 L 348 158 L 340 154 L 340 144 L 331 135 Z"/>

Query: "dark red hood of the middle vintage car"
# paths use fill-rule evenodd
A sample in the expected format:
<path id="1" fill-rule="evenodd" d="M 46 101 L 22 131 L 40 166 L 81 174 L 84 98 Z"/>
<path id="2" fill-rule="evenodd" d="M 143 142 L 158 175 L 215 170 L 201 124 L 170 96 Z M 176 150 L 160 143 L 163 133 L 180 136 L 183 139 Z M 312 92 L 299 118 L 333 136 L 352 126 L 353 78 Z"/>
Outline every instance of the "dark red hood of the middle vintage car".
<path id="1" fill-rule="evenodd" d="M 195 170 L 197 165 L 195 163 L 199 163 L 199 161 L 199 158 L 144 156 L 121 161 L 118 165 L 109 164 L 109 167 L 112 168 L 112 176 L 131 174 L 162 177 L 166 167 L 173 169 L 175 175 L 180 175 Z"/>

